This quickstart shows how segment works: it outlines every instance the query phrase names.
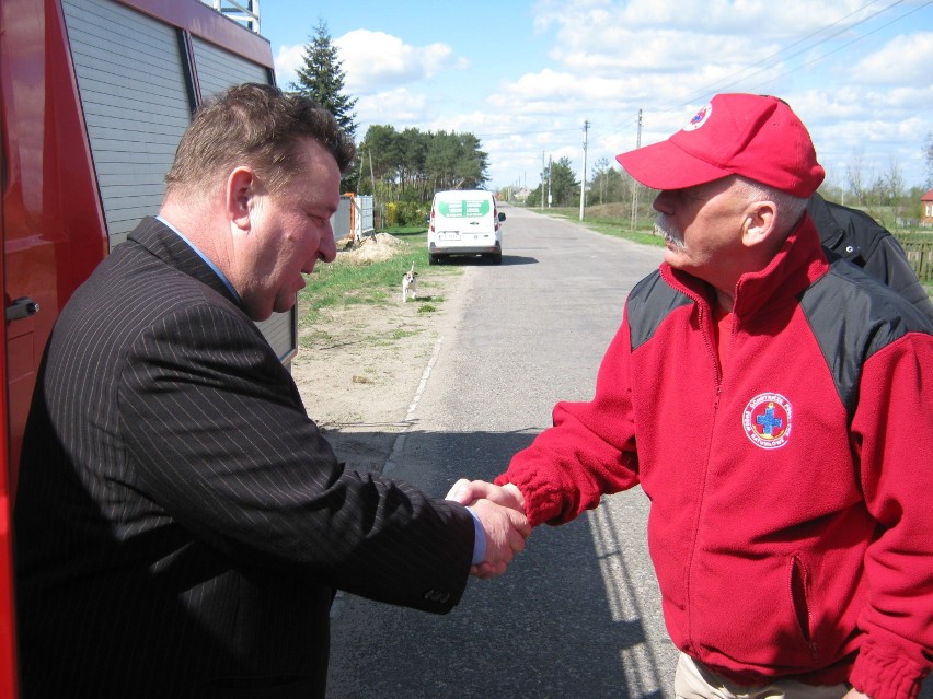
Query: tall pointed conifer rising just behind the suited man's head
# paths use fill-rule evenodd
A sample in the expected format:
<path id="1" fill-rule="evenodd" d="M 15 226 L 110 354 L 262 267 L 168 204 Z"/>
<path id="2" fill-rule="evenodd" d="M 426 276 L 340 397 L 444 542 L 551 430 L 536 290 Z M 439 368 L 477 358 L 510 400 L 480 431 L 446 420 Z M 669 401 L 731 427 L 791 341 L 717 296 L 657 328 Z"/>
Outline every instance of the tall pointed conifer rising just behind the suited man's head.
<path id="1" fill-rule="evenodd" d="M 344 94 L 346 73 L 337 55 L 337 47 L 331 42 L 327 24 L 319 19 L 314 36 L 304 47 L 304 65 L 298 69 L 298 82 L 291 83 L 291 90 L 314 100 L 334 115 L 344 133 L 356 136 L 356 98 Z"/>

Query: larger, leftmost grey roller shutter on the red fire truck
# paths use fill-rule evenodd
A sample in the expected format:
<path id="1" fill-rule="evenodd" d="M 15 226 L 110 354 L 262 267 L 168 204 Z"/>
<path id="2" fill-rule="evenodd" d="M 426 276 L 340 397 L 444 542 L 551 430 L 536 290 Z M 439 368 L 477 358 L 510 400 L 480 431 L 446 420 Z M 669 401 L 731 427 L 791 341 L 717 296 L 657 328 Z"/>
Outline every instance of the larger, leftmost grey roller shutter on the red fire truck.
<path id="1" fill-rule="evenodd" d="M 177 33 L 112 0 L 61 7 L 113 249 L 159 211 L 191 123 Z"/>

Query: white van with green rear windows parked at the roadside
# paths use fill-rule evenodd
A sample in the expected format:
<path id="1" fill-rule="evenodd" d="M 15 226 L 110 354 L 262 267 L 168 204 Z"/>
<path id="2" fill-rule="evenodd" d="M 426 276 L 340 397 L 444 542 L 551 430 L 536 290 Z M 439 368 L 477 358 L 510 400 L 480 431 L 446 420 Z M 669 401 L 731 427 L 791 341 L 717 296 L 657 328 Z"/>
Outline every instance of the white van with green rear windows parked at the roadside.
<path id="1" fill-rule="evenodd" d="M 430 205 L 428 261 L 437 265 L 449 255 L 483 255 L 503 261 L 503 221 L 491 191 L 438 191 Z"/>

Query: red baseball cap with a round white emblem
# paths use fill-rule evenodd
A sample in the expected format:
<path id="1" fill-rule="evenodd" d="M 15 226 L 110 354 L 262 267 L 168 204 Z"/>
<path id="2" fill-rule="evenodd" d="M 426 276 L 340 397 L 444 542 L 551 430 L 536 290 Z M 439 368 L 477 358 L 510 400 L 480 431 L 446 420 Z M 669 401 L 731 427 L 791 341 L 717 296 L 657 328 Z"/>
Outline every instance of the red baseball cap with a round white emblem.
<path id="1" fill-rule="evenodd" d="M 741 175 L 800 198 L 826 171 L 806 127 L 778 97 L 721 94 L 666 141 L 615 156 L 652 189 L 683 189 Z"/>

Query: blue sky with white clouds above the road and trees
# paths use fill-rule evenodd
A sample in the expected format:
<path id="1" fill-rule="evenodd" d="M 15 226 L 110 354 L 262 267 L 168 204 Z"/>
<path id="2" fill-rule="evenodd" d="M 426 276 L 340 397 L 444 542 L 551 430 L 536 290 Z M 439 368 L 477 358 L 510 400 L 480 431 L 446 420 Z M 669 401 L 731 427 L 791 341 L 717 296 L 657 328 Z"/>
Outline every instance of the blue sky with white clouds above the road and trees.
<path id="1" fill-rule="evenodd" d="M 488 189 L 577 178 L 666 139 L 716 93 L 773 94 L 830 184 L 928 185 L 933 0 L 263 0 L 279 86 L 326 24 L 371 125 L 471 132 Z M 641 115 L 641 125 L 640 125 Z M 584 150 L 586 144 L 586 151 Z M 930 183 L 933 186 L 933 183 Z"/>

